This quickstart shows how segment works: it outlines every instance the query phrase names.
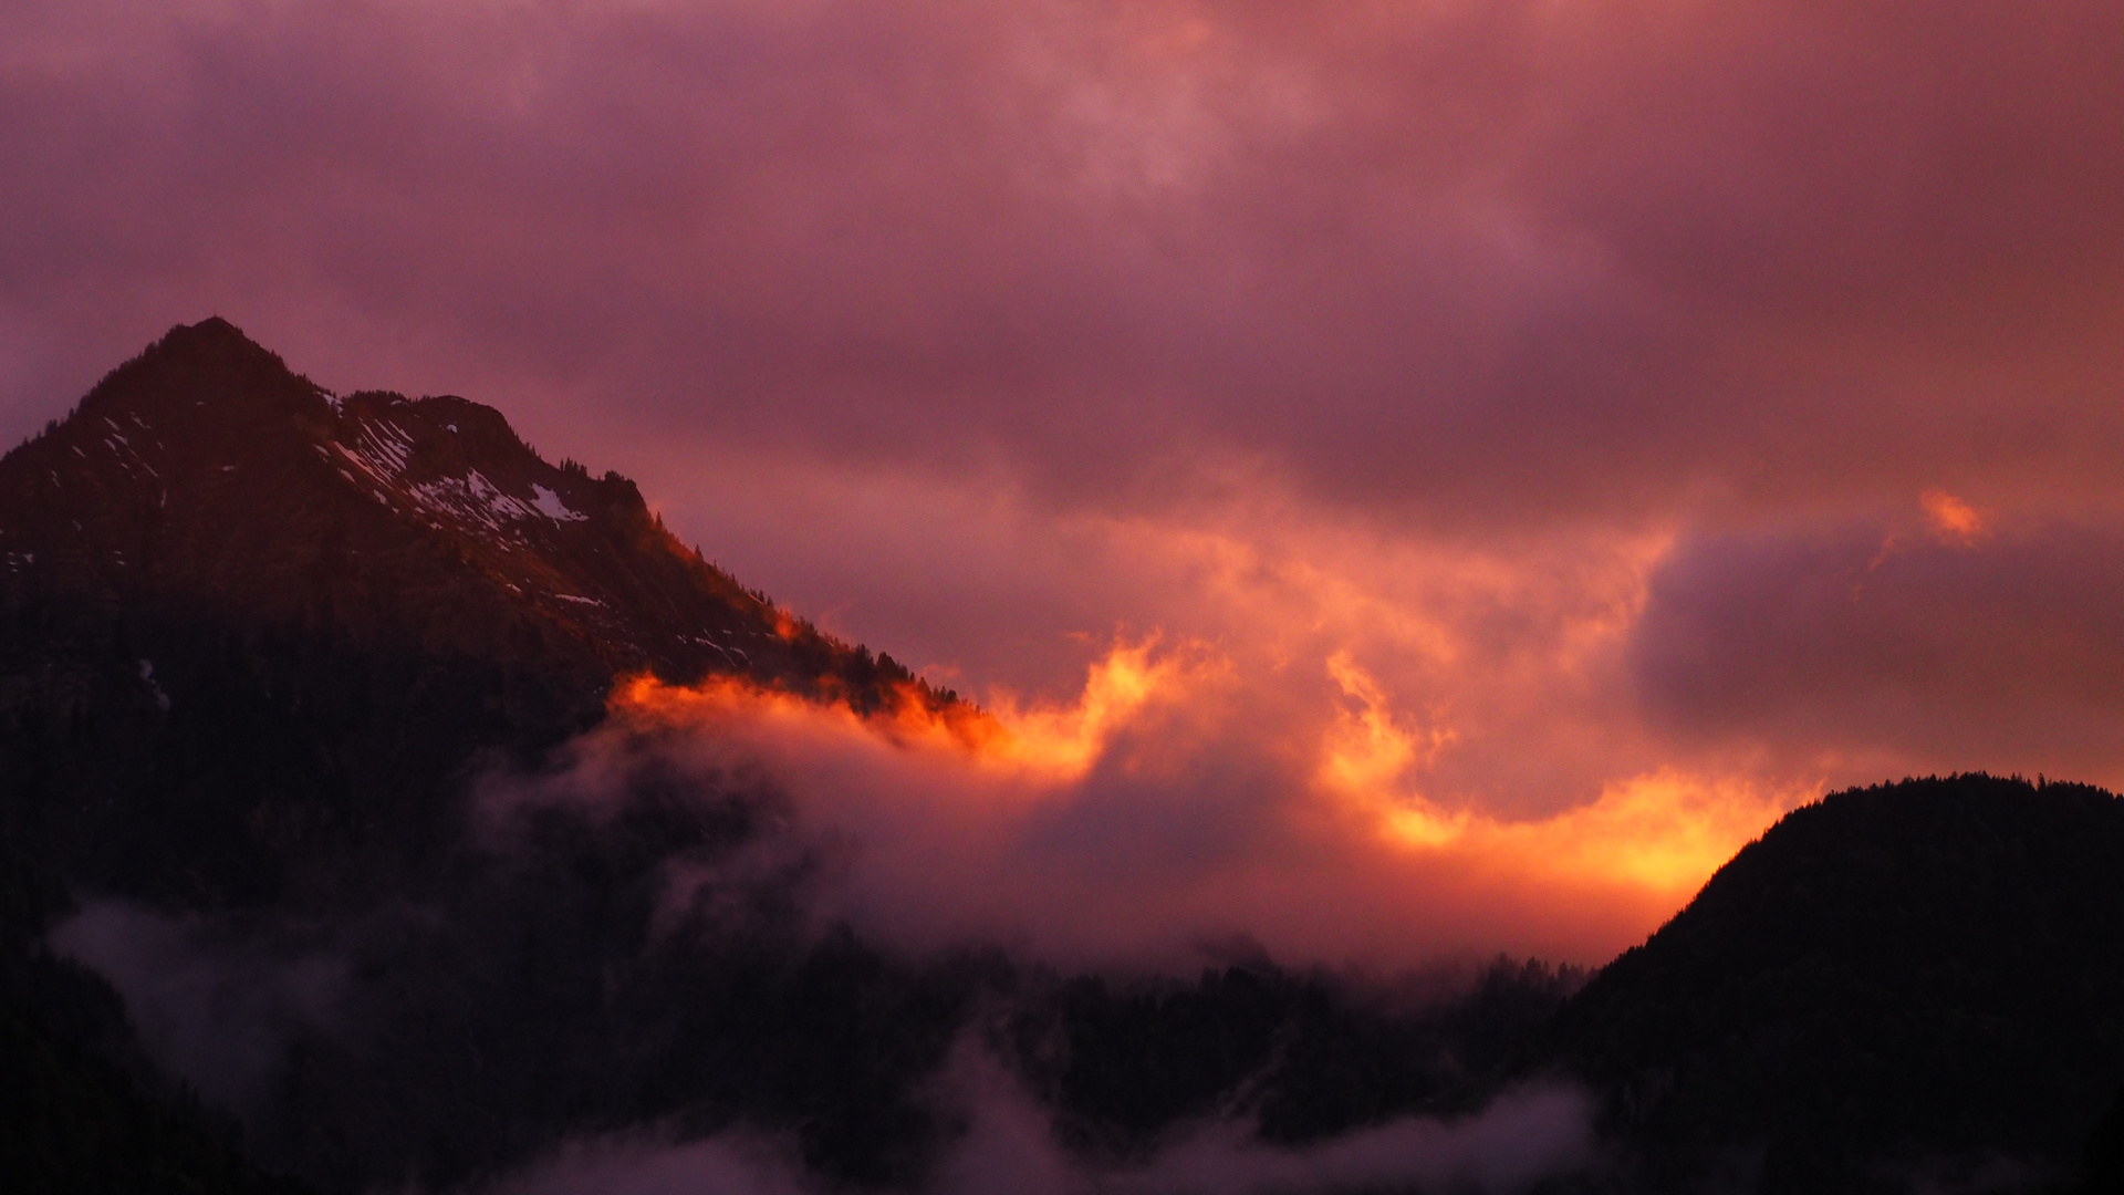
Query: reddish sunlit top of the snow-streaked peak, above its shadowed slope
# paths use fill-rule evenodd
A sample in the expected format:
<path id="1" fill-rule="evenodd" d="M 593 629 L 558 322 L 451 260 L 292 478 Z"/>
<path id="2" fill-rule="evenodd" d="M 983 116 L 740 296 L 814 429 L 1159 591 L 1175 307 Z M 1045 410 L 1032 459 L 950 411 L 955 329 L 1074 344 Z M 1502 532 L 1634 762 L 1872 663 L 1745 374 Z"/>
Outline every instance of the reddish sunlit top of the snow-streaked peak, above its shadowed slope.
<path id="1" fill-rule="evenodd" d="M 680 546 L 620 474 L 548 464 L 465 398 L 338 398 L 221 317 L 170 330 L 0 461 L 0 495 L 15 572 L 72 557 L 93 574 L 74 585 L 113 598 L 174 587 L 429 642 L 461 623 L 452 646 L 476 655 L 531 619 L 603 672 L 680 680 L 788 685 L 856 657 L 777 634 L 794 621 Z M 510 617 L 444 619 L 408 589 Z"/>

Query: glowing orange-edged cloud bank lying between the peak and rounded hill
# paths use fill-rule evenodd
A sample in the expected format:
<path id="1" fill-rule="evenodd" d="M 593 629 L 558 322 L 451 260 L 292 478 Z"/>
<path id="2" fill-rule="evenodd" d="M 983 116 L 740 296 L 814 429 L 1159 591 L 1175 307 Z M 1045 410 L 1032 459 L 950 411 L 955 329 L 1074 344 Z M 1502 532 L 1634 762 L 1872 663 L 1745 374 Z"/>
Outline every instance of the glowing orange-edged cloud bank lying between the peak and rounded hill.
<path id="1" fill-rule="evenodd" d="M 869 717 L 635 680 L 607 734 L 650 727 L 688 765 L 769 776 L 794 834 L 847 848 L 830 916 L 1064 963 L 1185 963 L 1230 933 L 1298 961 L 1597 961 L 1810 795 L 1650 770 L 1531 819 L 1432 800 L 1446 712 L 1400 714 L 1349 653 L 1321 668 L 1332 689 L 1304 693 L 1202 644 L 1119 642 L 1070 702 Z"/>

